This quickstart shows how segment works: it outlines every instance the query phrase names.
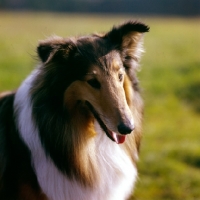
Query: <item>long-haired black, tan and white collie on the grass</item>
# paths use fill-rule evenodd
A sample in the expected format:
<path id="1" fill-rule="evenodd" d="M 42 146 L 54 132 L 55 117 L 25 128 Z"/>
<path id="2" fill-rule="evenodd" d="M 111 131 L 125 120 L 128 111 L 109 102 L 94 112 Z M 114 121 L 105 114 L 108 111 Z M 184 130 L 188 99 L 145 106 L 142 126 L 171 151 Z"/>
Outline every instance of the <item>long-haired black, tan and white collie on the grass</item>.
<path id="1" fill-rule="evenodd" d="M 127 21 L 39 42 L 39 66 L 0 97 L 1 200 L 130 198 L 143 118 L 136 72 L 148 31 Z"/>

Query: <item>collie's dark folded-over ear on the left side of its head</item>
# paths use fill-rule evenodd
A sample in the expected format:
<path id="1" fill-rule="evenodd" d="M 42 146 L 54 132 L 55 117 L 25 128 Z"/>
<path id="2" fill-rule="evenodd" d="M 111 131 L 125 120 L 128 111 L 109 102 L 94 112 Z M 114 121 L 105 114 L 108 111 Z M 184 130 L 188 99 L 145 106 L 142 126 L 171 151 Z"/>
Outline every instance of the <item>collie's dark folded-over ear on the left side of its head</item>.
<path id="1" fill-rule="evenodd" d="M 37 53 L 43 63 L 48 63 L 53 58 L 68 58 L 75 44 L 71 40 L 53 36 L 39 42 Z"/>

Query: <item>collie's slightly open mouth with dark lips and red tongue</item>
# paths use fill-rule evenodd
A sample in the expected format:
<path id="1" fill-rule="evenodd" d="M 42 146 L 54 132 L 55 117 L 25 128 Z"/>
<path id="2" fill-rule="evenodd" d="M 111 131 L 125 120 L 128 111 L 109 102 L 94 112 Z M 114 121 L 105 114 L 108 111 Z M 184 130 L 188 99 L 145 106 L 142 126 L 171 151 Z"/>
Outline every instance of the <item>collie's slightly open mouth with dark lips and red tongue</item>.
<path id="1" fill-rule="evenodd" d="M 121 135 L 121 134 L 115 133 L 114 131 L 109 130 L 107 126 L 104 124 L 104 122 L 102 121 L 102 119 L 100 118 L 98 112 L 94 109 L 94 107 L 88 101 L 86 101 L 85 104 L 88 106 L 88 108 L 94 115 L 95 119 L 98 121 L 103 131 L 113 142 L 116 142 L 117 144 L 122 144 L 125 142 L 126 135 Z"/>

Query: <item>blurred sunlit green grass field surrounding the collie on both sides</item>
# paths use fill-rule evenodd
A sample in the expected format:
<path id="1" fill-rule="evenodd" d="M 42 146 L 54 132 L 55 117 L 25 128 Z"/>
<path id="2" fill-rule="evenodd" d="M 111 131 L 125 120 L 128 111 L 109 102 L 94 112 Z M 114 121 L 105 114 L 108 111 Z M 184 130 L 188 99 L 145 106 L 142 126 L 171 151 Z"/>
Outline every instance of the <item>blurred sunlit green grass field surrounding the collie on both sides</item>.
<path id="1" fill-rule="evenodd" d="M 0 91 L 16 89 L 49 35 L 106 31 L 126 19 L 151 27 L 139 78 L 145 100 L 137 200 L 200 199 L 200 18 L 0 14 Z"/>

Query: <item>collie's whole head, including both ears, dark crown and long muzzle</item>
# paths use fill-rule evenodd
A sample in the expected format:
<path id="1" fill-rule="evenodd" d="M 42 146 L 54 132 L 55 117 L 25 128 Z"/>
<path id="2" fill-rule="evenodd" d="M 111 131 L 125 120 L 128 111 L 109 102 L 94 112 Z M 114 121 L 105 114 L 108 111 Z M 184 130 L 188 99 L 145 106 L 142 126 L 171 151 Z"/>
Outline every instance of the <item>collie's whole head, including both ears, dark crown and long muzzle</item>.
<path id="1" fill-rule="evenodd" d="M 59 81 L 63 80 L 54 90 L 63 88 L 60 98 L 68 112 L 74 112 L 78 105 L 80 109 L 80 104 L 88 107 L 107 136 L 117 143 L 124 142 L 135 126 L 133 85 L 137 82 L 142 33 L 146 31 L 144 24 L 129 22 L 102 36 L 52 37 L 38 47 L 46 74 L 53 76 L 54 71 L 60 74 Z"/>

